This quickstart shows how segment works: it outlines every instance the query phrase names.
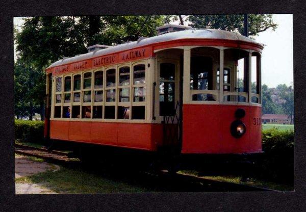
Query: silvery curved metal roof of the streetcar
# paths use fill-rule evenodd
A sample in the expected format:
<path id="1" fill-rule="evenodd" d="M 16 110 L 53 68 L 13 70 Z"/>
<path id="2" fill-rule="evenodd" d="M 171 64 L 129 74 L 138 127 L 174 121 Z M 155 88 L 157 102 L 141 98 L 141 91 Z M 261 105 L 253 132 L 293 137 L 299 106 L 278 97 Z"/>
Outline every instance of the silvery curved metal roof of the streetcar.
<path id="1" fill-rule="evenodd" d="M 219 40 L 243 41 L 243 42 L 251 43 L 254 45 L 260 45 L 259 43 L 257 43 L 256 41 L 252 39 L 249 39 L 245 36 L 242 36 L 242 35 L 239 35 L 233 32 L 228 32 L 224 30 L 214 30 L 214 29 L 192 29 L 192 30 L 185 30 L 185 31 L 167 33 L 167 34 L 158 35 L 154 37 L 144 38 L 140 41 L 127 42 L 127 43 L 115 45 L 109 48 L 100 49 L 97 51 L 91 51 L 86 54 L 74 56 L 71 58 L 64 58 L 64 59 L 61 59 L 53 63 L 48 68 L 65 65 L 69 63 L 74 63 L 74 62 L 78 62 L 82 60 L 87 60 L 90 58 L 104 56 L 104 55 L 112 54 L 115 52 L 138 48 L 138 47 L 146 46 L 150 44 L 166 42 L 166 41 L 175 41 L 175 40 L 181 40 L 181 39 L 219 39 Z"/>

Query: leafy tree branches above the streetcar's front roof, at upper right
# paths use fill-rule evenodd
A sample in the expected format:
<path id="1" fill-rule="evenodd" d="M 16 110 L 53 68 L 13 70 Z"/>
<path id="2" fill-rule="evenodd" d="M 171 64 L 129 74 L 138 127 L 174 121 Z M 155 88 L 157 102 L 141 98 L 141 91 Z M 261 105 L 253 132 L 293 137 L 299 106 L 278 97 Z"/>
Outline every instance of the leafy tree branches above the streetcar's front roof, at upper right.
<path id="1" fill-rule="evenodd" d="M 189 25 L 197 29 L 219 29 L 243 33 L 243 15 L 190 15 L 188 20 L 191 22 Z M 277 27 L 272 15 L 250 14 L 248 22 L 249 36 L 256 36 L 269 28 L 274 31 Z"/>

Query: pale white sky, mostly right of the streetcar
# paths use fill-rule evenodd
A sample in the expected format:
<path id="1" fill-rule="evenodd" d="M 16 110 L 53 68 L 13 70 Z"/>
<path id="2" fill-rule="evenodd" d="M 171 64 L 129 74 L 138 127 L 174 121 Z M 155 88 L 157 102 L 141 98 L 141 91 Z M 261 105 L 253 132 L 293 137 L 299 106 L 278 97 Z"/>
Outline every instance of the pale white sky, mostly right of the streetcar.
<path id="1" fill-rule="evenodd" d="M 279 84 L 289 86 L 293 84 L 293 17 L 292 14 L 273 14 L 273 21 L 278 24 L 275 31 L 268 29 L 255 37 L 257 42 L 265 44 L 262 51 L 262 84 L 268 87 Z M 14 25 L 22 24 L 22 17 L 14 17 Z M 17 26 L 17 29 L 21 28 Z"/>

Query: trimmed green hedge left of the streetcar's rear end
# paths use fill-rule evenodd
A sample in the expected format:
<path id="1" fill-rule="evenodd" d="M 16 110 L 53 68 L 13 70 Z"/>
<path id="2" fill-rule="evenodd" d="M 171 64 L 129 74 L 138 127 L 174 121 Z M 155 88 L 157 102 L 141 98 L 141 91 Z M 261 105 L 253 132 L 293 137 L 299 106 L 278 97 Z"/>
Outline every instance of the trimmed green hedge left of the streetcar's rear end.
<path id="1" fill-rule="evenodd" d="M 15 139 L 22 142 L 43 143 L 44 122 L 15 119 Z"/>

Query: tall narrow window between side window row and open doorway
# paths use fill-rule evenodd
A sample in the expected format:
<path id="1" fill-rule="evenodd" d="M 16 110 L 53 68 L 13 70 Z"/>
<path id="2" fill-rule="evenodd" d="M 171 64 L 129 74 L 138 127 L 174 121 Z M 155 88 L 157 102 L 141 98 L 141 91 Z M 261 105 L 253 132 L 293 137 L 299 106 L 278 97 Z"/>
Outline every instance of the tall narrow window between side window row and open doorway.
<path id="1" fill-rule="evenodd" d="M 159 79 L 160 116 L 173 115 L 175 113 L 175 65 L 171 63 L 161 63 Z"/>

